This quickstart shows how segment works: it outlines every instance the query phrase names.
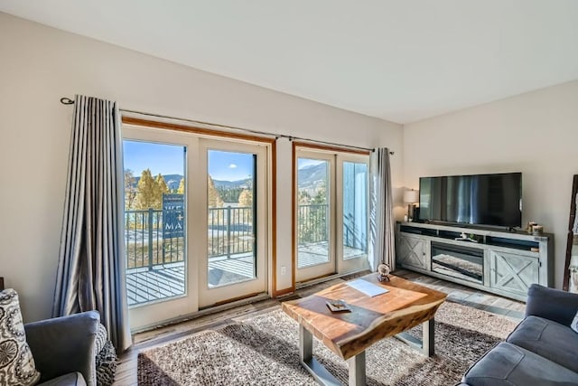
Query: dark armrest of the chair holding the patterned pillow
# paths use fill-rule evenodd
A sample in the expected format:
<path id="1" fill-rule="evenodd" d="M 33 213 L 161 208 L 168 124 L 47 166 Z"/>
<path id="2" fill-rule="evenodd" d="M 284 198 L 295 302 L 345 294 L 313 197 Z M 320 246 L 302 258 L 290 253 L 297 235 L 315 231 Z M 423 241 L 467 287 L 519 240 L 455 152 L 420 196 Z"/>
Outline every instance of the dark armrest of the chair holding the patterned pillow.
<path id="1" fill-rule="evenodd" d="M 80 372 L 89 386 L 96 385 L 95 340 L 97 311 L 55 317 L 24 325 L 41 381 Z"/>

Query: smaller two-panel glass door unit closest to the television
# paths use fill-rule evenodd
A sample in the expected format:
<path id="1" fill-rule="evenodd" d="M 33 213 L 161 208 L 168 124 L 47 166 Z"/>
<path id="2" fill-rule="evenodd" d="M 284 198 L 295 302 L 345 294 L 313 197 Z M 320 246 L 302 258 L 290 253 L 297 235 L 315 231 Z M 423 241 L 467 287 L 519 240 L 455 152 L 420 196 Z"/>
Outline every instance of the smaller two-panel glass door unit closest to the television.
<path id="1" fill-rule="evenodd" d="M 367 269 L 368 155 L 294 151 L 295 281 Z"/>

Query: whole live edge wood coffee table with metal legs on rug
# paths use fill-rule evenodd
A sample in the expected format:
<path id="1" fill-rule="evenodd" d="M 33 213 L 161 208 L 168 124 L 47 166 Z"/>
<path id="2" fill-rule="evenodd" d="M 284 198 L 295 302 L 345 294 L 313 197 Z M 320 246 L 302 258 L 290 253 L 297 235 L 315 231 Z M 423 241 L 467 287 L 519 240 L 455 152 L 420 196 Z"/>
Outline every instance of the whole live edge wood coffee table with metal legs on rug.
<path id="1" fill-rule="evenodd" d="M 446 295 L 403 278 L 389 278 L 385 282 L 379 282 L 377 274 L 361 278 L 387 288 L 387 293 L 376 297 L 342 283 L 282 304 L 284 312 L 299 322 L 300 362 L 316 381 L 340 384 L 313 358 L 312 335 L 348 362 L 351 386 L 366 384 L 365 350 L 387 336 L 396 335 L 425 355 L 433 355 L 433 315 Z M 331 312 L 326 302 L 337 299 L 345 301 L 351 312 Z M 424 324 L 422 340 L 401 334 L 420 324 Z"/>

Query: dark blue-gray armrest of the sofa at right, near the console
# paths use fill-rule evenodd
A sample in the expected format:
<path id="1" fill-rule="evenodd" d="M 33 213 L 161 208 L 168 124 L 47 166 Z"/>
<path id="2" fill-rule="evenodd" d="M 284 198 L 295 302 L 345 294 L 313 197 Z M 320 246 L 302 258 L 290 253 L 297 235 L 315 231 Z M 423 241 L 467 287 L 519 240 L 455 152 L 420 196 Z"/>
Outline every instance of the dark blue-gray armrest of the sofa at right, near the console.
<path id="1" fill-rule="evenodd" d="M 526 315 L 571 325 L 578 312 L 578 294 L 533 284 L 527 291 Z"/>

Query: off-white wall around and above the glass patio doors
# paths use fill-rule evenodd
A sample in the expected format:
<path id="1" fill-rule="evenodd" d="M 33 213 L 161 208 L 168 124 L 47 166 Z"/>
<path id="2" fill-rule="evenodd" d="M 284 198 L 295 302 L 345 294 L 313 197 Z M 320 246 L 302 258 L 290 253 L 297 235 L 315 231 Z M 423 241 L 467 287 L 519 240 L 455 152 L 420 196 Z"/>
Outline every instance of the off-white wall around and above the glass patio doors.
<path id="1" fill-rule="evenodd" d="M 0 276 L 26 321 L 51 314 L 61 237 L 72 107 L 61 97 L 113 99 L 121 108 L 309 137 L 388 146 L 402 182 L 402 127 L 64 33 L 0 13 Z M 283 146 L 280 146 L 283 147 Z M 290 272 L 291 153 L 278 159 L 280 242 Z M 401 210 L 401 207 L 400 207 Z M 279 269 L 277 270 L 279 271 Z M 278 289 L 290 287 L 278 277 Z"/>

